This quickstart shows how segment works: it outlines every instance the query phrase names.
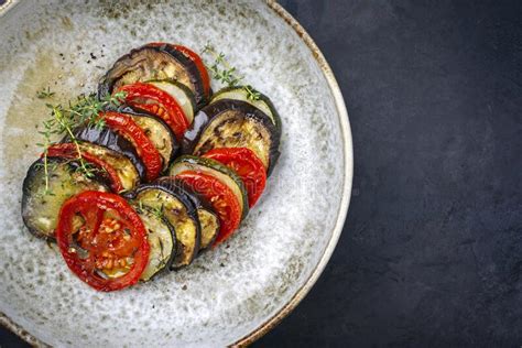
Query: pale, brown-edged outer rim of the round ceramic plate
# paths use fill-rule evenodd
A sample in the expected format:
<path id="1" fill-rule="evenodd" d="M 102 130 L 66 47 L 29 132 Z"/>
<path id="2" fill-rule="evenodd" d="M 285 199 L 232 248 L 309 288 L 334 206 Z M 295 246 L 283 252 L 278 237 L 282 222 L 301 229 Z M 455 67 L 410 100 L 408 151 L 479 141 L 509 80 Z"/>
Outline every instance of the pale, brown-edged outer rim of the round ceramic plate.
<path id="1" fill-rule="evenodd" d="M 14 8 L 21 0 L 7 0 L 3 4 L 0 6 L 0 18 L 2 18 L 10 9 Z M 339 88 L 339 85 L 334 76 L 334 72 L 323 55 L 322 51 L 314 42 L 312 36 L 306 32 L 306 30 L 297 22 L 292 14 L 290 14 L 281 4 L 275 0 L 264 0 L 265 4 L 274 12 L 275 15 L 280 17 L 284 22 L 290 25 L 294 32 L 300 36 L 300 39 L 305 43 L 305 45 L 311 51 L 314 59 L 319 65 L 319 68 L 326 78 L 328 87 L 333 94 L 334 102 L 337 109 L 337 115 L 339 119 L 341 138 L 342 138 L 342 150 L 344 150 L 344 165 L 345 165 L 345 175 L 342 182 L 342 196 L 340 200 L 339 208 L 337 210 L 337 219 L 333 233 L 328 243 L 326 244 L 323 255 L 320 257 L 318 263 L 315 265 L 312 274 L 308 276 L 306 282 L 295 292 L 292 298 L 286 302 L 274 315 L 263 322 L 261 325 L 255 327 L 252 331 L 244 335 L 242 338 L 231 344 L 230 347 L 244 347 L 249 346 L 272 328 L 274 328 L 284 317 L 286 317 L 295 307 L 301 303 L 301 301 L 308 294 L 314 284 L 319 279 L 323 273 L 326 264 L 328 263 L 334 250 L 339 240 L 340 233 L 345 226 L 346 217 L 348 214 L 348 207 L 351 198 L 351 185 L 354 178 L 354 146 L 351 138 L 351 128 L 348 117 L 348 111 L 346 108 L 345 99 L 342 93 Z M 0 325 L 4 326 L 13 334 L 25 340 L 28 344 L 46 347 L 47 345 L 29 331 L 26 331 L 22 326 L 14 323 L 7 315 L 0 312 Z"/>

